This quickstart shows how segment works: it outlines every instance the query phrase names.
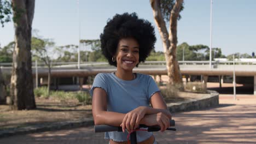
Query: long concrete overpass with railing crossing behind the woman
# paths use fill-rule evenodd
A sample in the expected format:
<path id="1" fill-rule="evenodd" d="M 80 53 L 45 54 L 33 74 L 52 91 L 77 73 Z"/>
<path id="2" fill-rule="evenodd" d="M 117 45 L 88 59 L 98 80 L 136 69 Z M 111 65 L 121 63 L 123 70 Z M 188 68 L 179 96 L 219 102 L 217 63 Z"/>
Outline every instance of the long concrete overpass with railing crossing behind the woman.
<path id="1" fill-rule="evenodd" d="M 238 63 L 231 65 L 230 62 L 217 63 L 213 62 L 213 68 L 210 69 L 208 61 L 185 61 L 179 62 L 182 75 L 201 75 L 203 81 L 207 82 L 209 76 L 219 76 L 220 79 L 224 75 L 232 76 L 234 71 L 237 77 L 236 81 L 245 81 L 244 77 L 248 77 L 247 80 L 252 81 L 254 85 L 254 95 L 256 95 L 256 64 L 241 64 Z M 2 73 L 10 74 L 11 67 L 1 67 Z M 81 64 L 80 69 L 77 69 L 76 64 L 58 65 L 54 66 L 51 70 L 51 76 L 53 78 L 58 77 L 88 77 L 96 75 L 98 73 L 112 73 L 116 68 L 108 65 L 107 63 L 86 63 Z M 33 67 L 33 76 L 36 77 L 36 70 Z M 146 62 L 140 64 L 138 68 L 134 69 L 135 73 L 142 73 L 148 75 L 167 75 L 167 69 L 165 62 Z M 48 69 L 45 67 L 38 68 L 38 77 L 47 77 Z M 239 79 L 240 78 L 240 79 Z M 220 80 L 221 81 L 221 80 Z M 221 85 L 221 83 L 220 83 Z"/>

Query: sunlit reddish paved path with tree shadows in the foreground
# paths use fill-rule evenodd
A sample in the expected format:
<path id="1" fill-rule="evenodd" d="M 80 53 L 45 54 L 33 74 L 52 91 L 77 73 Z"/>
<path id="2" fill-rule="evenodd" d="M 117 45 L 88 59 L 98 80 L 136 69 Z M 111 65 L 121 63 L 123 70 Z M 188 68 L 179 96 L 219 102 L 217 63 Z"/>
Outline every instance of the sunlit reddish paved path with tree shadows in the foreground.
<path id="1" fill-rule="evenodd" d="M 220 94 L 212 109 L 174 113 L 177 131 L 156 132 L 159 143 L 256 143 L 256 97 Z M 0 143 L 107 143 L 93 127 L 46 131 L 0 139 Z"/>

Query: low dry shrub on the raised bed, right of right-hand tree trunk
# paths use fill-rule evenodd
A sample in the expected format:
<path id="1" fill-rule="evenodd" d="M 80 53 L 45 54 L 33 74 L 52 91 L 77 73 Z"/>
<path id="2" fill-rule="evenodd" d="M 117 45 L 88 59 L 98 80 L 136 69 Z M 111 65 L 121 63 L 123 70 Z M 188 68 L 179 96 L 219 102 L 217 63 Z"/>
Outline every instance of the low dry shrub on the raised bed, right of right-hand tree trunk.
<path id="1" fill-rule="evenodd" d="M 206 93 L 207 87 L 202 82 L 188 82 L 184 87 L 187 92 Z"/>

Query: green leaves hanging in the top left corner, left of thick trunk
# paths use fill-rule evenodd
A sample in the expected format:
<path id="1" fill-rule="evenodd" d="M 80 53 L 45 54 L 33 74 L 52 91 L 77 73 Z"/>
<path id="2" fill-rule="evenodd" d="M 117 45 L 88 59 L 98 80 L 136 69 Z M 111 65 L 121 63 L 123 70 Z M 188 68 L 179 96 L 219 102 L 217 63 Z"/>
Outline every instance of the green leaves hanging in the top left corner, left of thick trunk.
<path id="1" fill-rule="evenodd" d="M 11 15 L 11 3 L 7 0 L 0 0 L 0 22 L 4 27 L 5 22 L 9 22 Z"/>

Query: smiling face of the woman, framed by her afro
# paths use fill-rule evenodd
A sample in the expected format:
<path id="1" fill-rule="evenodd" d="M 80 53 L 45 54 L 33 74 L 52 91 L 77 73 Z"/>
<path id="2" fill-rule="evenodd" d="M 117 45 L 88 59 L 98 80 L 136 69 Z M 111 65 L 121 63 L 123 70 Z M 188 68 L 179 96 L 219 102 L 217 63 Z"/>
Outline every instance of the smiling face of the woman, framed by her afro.
<path id="1" fill-rule="evenodd" d="M 133 38 L 119 40 L 117 49 L 117 68 L 132 71 L 139 62 L 139 44 Z"/>

